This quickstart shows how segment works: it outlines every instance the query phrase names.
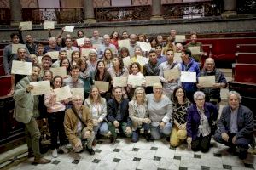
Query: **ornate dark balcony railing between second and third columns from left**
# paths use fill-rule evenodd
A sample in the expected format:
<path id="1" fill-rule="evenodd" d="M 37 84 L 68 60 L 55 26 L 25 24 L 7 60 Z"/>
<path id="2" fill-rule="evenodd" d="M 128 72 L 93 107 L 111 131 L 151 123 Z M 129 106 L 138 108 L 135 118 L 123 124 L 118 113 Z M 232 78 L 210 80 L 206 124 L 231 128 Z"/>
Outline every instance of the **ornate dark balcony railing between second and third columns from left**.
<path id="1" fill-rule="evenodd" d="M 94 8 L 96 20 L 122 21 L 122 20 L 149 20 L 151 6 L 106 7 Z"/>

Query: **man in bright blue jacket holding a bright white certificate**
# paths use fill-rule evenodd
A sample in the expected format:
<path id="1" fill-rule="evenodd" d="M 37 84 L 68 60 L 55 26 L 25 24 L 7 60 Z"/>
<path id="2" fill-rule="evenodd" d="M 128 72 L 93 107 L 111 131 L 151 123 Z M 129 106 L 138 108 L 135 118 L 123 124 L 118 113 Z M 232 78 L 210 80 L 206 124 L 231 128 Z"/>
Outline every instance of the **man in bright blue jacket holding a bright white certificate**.
<path id="1" fill-rule="evenodd" d="M 189 49 L 183 49 L 181 58 L 183 62 L 181 63 L 181 71 L 189 71 L 189 72 L 195 72 L 196 77 L 198 77 L 198 74 L 200 72 L 199 65 L 191 56 L 191 51 Z M 186 91 L 187 98 L 190 100 L 190 102 L 194 103 L 193 95 L 195 91 L 197 90 L 196 83 L 195 82 L 182 82 L 182 86 Z"/>

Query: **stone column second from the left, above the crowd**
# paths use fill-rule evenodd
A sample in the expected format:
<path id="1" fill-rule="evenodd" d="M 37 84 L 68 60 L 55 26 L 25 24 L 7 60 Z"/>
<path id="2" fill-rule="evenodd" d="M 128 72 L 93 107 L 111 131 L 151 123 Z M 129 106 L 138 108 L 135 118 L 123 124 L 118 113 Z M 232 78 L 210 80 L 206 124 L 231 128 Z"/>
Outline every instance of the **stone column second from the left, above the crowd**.
<path id="1" fill-rule="evenodd" d="M 84 0 L 84 23 L 94 23 L 95 15 L 93 8 L 93 0 Z"/>

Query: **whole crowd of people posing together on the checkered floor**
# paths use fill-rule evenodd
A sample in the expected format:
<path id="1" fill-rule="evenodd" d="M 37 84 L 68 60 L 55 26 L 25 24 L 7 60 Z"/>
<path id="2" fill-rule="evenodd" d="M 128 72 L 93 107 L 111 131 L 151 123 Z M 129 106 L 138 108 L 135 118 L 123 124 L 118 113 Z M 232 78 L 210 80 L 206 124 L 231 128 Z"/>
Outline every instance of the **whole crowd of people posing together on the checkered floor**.
<path id="1" fill-rule="evenodd" d="M 196 34 L 193 33 L 192 41 L 185 45 L 175 42 L 176 31 L 171 30 L 167 43 L 160 41 L 161 38 L 150 39 L 152 49 L 143 52 L 137 44 L 137 35 L 128 37 L 127 34 L 125 37 L 125 33 L 123 39 L 130 38 L 130 48 L 118 47 L 117 31 L 103 37 L 94 31 L 94 37 L 85 37 L 81 47 L 75 47 L 77 42 L 71 41 L 68 35 L 63 39 L 66 47 L 61 47 L 55 37 L 50 37 L 49 46 L 36 46 L 35 58 L 29 50 L 34 46 L 29 42 L 26 42 L 26 48 L 18 48 L 17 54 L 11 53 L 12 44 L 4 48 L 6 74 L 10 73 L 12 60 L 33 62 L 32 75 L 14 76 L 14 99 L 15 119 L 26 125 L 28 156 L 34 156 L 34 163 L 50 162 L 39 150 L 37 119 L 42 118 L 48 119 L 53 157 L 58 156 L 58 150 L 68 152 L 66 138 L 75 152 L 85 149 L 93 155 L 96 139 L 111 133 L 111 144 L 116 143 L 118 135 L 124 134 L 131 138 L 131 142 L 137 142 L 141 136 L 148 141 L 166 138 L 172 147 L 184 143 L 194 151 L 203 152 L 210 149 L 213 136 L 234 152 L 238 148 L 240 158 L 245 159 L 248 145 L 254 144 L 253 113 L 240 104 L 240 94 L 231 91 L 228 105 L 217 120 L 220 89 L 227 86 L 227 81 L 223 72 L 215 68 L 212 58 L 207 58 L 200 69 L 197 61 L 201 62 L 201 59 L 195 61 L 198 56 L 192 56 L 187 48 L 201 45 L 196 42 Z M 83 37 L 83 31 L 78 32 L 78 37 Z M 13 44 L 19 43 L 17 34 L 12 34 L 11 38 Z M 138 39 L 143 41 L 145 36 L 138 36 Z M 82 48 L 90 48 L 88 57 L 81 55 Z M 47 54 L 49 51 L 59 51 L 59 59 L 53 60 Z M 67 58 L 68 51 L 71 59 Z M 175 53 L 180 53 L 181 62 L 174 60 Z M 41 62 L 38 62 L 38 56 L 41 56 Z M 126 57 L 131 60 L 130 65 L 124 64 Z M 138 57 L 148 58 L 148 63 L 140 65 Z M 53 77 L 49 69 L 61 66 L 67 69 L 67 77 Z M 166 77 L 164 72 L 172 69 L 195 72 L 196 77 L 214 76 L 216 83 L 206 88 L 199 82 L 181 82 L 179 77 Z M 146 86 L 146 76 L 159 76 L 160 82 L 154 83 L 153 87 Z M 128 77 L 127 86 L 114 86 L 114 77 Z M 131 81 L 134 77 L 141 84 Z M 32 95 L 30 83 L 41 80 L 51 82 L 52 92 Z M 98 88 L 95 81 L 109 82 L 108 91 Z M 54 89 L 63 86 L 84 88 L 84 94 L 57 101 Z"/>

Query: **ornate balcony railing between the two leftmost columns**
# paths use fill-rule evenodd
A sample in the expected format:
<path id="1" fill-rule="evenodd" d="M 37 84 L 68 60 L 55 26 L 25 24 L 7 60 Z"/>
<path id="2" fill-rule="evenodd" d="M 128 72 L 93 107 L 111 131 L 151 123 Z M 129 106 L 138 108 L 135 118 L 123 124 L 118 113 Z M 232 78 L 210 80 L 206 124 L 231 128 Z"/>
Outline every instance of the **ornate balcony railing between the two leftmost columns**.
<path id="1" fill-rule="evenodd" d="M 84 8 L 22 8 L 23 20 L 31 20 L 33 24 L 44 20 L 57 23 L 78 23 L 84 20 Z"/>

